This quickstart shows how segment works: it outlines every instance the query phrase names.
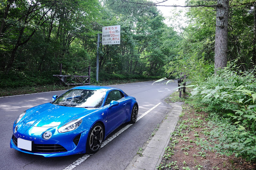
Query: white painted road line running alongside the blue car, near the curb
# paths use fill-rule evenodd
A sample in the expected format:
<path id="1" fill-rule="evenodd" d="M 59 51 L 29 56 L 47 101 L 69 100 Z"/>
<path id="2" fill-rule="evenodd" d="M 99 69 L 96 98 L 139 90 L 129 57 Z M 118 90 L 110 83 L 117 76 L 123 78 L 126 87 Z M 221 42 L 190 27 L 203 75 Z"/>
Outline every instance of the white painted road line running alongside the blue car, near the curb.
<path id="1" fill-rule="evenodd" d="M 154 108 L 156 108 L 157 106 L 159 106 L 161 103 L 158 103 L 156 106 L 152 107 L 151 109 L 149 109 L 148 111 L 146 111 L 145 113 L 143 113 L 142 115 L 140 115 L 140 117 L 137 118 L 136 122 L 138 120 L 140 120 L 142 117 L 144 117 L 146 114 L 148 114 L 150 111 L 152 111 Z M 114 135 L 112 135 L 111 137 L 109 137 L 108 139 L 106 139 L 102 145 L 100 146 L 100 148 L 104 147 L 105 145 L 107 145 L 108 143 L 110 143 L 110 141 L 112 141 L 113 139 L 115 139 L 118 135 L 120 135 L 122 132 L 124 132 L 126 129 L 128 129 L 131 125 L 133 124 L 128 124 L 125 127 L 123 127 L 122 129 L 120 129 L 118 132 L 116 132 Z M 92 154 L 84 154 L 84 156 L 82 156 L 81 158 L 78 158 L 78 160 L 74 161 L 72 164 L 70 164 L 69 166 L 67 166 L 65 169 L 63 170 L 72 170 L 74 168 L 76 168 L 76 166 L 78 166 L 79 164 L 81 164 L 82 162 L 84 162 L 87 158 L 89 158 Z"/>

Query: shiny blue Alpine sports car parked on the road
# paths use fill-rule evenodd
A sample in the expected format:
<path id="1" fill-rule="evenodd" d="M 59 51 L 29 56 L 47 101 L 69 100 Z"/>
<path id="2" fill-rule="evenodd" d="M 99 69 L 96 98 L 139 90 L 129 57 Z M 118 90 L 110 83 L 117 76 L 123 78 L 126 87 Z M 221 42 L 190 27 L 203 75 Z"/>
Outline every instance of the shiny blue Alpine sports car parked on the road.
<path id="1" fill-rule="evenodd" d="M 111 132 L 135 123 L 138 115 L 136 99 L 117 88 L 78 86 L 52 99 L 18 116 L 11 148 L 45 157 L 92 154 Z"/>

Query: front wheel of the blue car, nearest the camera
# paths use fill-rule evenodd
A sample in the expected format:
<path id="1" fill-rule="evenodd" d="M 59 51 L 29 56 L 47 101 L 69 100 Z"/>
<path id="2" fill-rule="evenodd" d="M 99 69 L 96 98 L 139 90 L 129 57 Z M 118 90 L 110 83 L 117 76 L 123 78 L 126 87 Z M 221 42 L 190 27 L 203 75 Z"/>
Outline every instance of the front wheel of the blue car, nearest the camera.
<path id="1" fill-rule="evenodd" d="M 86 143 L 86 153 L 93 154 L 100 149 L 104 139 L 104 129 L 100 123 L 96 123 L 90 130 Z"/>

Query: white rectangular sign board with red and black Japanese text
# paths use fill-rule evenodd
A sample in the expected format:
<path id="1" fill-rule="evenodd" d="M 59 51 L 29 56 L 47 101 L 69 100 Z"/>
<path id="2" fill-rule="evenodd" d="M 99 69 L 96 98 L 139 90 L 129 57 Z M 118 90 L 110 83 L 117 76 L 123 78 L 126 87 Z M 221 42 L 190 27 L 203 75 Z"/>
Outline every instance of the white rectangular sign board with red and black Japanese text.
<path id="1" fill-rule="evenodd" d="M 102 27 L 102 44 L 120 44 L 120 25 Z"/>

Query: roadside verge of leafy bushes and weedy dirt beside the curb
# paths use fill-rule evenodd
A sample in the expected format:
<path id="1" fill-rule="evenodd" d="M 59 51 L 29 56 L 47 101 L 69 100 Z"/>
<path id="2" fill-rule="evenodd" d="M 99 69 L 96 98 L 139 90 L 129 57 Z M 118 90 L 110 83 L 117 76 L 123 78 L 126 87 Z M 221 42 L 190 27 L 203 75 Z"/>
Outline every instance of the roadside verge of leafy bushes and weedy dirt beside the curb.
<path id="1" fill-rule="evenodd" d="M 230 64 L 206 81 L 192 83 L 196 88 L 191 90 L 189 98 L 178 100 L 175 92 L 166 99 L 166 102 L 185 102 L 185 111 L 157 168 L 255 169 L 256 68 L 242 71 Z M 194 163 L 189 156 L 194 157 Z M 204 159 L 219 163 L 200 161 Z"/>

